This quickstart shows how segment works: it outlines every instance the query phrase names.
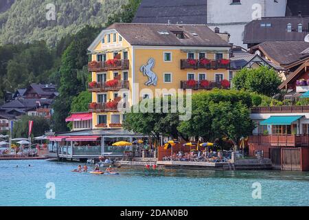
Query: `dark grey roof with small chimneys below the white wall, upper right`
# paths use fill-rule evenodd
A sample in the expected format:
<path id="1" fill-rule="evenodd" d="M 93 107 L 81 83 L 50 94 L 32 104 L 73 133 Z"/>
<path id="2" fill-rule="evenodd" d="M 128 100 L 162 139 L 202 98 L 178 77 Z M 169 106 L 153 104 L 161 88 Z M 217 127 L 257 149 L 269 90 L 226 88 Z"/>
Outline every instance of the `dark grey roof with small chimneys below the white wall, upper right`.
<path id="1" fill-rule="evenodd" d="M 271 27 L 261 27 L 270 23 Z M 292 25 L 292 32 L 287 32 L 288 23 Z M 298 24 L 303 25 L 303 32 L 297 32 Z M 254 20 L 244 28 L 244 44 L 258 44 L 265 41 L 304 41 L 308 34 L 309 17 L 264 17 Z"/>

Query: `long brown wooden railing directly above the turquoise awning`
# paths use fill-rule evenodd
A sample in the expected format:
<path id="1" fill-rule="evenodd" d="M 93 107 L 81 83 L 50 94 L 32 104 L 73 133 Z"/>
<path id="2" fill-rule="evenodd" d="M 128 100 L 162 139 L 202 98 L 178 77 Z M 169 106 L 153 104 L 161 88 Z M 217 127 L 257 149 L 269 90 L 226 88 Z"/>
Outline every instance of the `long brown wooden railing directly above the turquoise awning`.
<path id="1" fill-rule="evenodd" d="M 273 107 L 253 107 L 251 113 L 309 113 L 309 106 L 273 106 Z"/>

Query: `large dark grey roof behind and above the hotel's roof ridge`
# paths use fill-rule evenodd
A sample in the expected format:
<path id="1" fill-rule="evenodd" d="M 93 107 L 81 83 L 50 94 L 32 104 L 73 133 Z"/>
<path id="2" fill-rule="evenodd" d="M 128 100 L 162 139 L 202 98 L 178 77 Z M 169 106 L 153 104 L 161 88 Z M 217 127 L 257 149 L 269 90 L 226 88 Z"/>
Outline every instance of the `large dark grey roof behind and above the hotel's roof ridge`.
<path id="1" fill-rule="evenodd" d="M 207 0 L 143 0 L 133 23 L 207 23 Z"/>

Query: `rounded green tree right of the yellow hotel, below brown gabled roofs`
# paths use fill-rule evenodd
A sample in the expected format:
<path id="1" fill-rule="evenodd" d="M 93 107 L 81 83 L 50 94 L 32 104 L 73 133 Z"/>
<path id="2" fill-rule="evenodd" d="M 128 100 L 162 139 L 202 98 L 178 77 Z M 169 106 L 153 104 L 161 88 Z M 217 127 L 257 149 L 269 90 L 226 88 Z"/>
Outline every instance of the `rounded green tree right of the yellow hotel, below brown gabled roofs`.
<path id="1" fill-rule="evenodd" d="M 277 72 L 265 66 L 257 69 L 242 69 L 233 78 L 233 87 L 235 89 L 255 91 L 266 96 L 277 94 L 281 83 L 282 79 Z"/>

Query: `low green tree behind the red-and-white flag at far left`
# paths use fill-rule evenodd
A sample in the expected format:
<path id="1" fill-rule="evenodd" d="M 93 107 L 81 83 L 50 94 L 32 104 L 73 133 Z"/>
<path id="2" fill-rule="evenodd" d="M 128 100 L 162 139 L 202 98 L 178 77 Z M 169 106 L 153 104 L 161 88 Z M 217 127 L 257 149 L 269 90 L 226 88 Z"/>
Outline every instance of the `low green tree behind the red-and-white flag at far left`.
<path id="1" fill-rule="evenodd" d="M 49 131 L 49 120 L 41 116 L 28 116 L 23 115 L 21 120 L 14 122 L 13 137 L 28 137 L 29 126 L 28 122 L 33 121 L 32 137 L 38 137 Z"/>

